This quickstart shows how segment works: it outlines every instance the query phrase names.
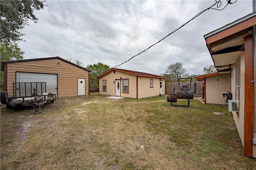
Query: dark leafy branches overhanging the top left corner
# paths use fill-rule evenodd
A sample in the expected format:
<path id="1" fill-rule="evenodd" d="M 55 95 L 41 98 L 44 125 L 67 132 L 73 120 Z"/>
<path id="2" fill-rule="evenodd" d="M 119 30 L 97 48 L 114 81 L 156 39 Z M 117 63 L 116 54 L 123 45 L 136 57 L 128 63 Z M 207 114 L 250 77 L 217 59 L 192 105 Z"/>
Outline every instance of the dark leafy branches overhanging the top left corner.
<path id="1" fill-rule="evenodd" d="M 20 30 L 28 21 L 35 23 L 38 18 L 33 14 L 34 10 L 44 9 L 44 2 L 40 0 L 1 0 L 0 1 L 0 39 L 6 45 L 15 45 L 21 41 Z"/>

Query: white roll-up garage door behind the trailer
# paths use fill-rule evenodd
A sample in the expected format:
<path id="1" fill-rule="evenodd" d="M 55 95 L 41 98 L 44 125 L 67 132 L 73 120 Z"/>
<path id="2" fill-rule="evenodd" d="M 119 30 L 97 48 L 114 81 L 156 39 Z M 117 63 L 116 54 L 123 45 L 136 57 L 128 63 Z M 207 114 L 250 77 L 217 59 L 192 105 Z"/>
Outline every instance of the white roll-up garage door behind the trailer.
<path id="1" fill-rule="evenodd" d="M 57 74 L 16 72 L 16 83 L 21 82 L 46 82 L 46 92 L 56 94 L 57 97 Z"/>

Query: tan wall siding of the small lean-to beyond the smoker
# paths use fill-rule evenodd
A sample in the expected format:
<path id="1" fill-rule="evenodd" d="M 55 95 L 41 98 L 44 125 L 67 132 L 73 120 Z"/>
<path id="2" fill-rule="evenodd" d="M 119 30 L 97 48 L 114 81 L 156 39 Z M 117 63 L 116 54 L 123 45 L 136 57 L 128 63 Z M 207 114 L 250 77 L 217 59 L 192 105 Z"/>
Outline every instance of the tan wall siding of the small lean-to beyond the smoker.
<path id="1" fill-rule="evenodd" d="M 230 91 L 230 74 L 217 74 L 206 77 L 206 103 L 226 104 L 221 92 Z"/>

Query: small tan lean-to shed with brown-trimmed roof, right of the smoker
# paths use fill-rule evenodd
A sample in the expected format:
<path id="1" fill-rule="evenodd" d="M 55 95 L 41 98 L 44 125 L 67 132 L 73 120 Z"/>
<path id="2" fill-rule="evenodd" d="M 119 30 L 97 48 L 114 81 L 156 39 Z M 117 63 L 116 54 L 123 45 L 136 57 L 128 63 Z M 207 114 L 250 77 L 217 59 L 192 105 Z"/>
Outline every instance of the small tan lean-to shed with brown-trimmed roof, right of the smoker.
<path id="1" fill-rule="evenodd" d="M 204 82 L 204 103 L 227 104 L 226 100 L 228 92 L 230 92 L 230 73 L 212 72 L 194 78 Z"/>

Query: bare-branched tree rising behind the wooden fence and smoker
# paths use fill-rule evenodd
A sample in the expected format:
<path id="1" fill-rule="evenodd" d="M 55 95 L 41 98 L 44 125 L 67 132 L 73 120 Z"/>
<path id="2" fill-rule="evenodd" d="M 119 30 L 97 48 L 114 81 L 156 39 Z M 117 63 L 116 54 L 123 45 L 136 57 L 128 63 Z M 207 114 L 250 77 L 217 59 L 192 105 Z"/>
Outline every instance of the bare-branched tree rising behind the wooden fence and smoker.
<path id="1" fill-rule="evenodd" d="M 167 67 L 165 73 L 169 74 L 171 81 L 178 81 L 178 78 L 184 78 L 188 76 L 186 69 L 182 67 L 182 63 L 180 62 L 170 64 Z"/>

